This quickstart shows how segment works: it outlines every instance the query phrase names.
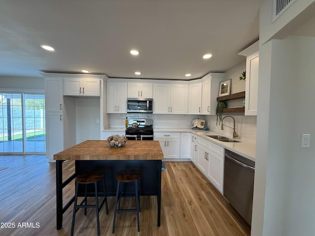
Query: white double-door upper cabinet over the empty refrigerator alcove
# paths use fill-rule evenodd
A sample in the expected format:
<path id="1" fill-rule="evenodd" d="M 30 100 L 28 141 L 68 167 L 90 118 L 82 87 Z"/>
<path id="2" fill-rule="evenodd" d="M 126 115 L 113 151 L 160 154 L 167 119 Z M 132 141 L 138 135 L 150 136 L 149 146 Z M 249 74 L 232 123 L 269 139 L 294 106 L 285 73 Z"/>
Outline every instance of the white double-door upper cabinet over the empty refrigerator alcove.
<path id="1" fill-rule="evenodd" d="M 64 78 L 63 95 L 69 96 L 99 96 L 99 79 Z"/>

